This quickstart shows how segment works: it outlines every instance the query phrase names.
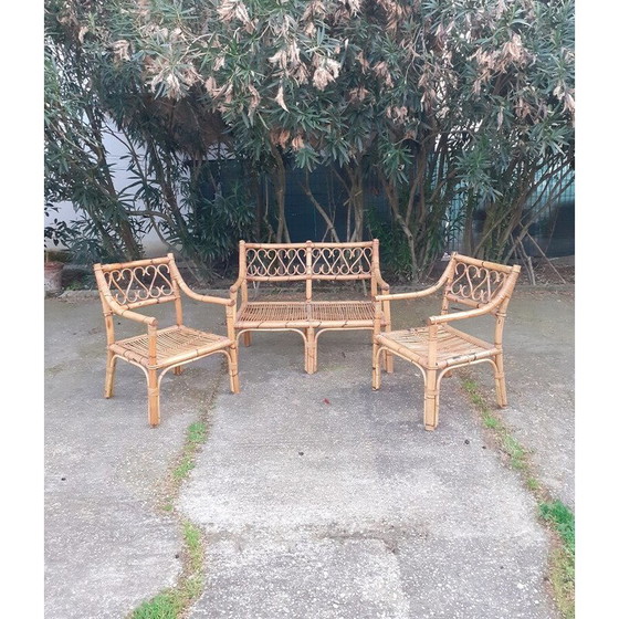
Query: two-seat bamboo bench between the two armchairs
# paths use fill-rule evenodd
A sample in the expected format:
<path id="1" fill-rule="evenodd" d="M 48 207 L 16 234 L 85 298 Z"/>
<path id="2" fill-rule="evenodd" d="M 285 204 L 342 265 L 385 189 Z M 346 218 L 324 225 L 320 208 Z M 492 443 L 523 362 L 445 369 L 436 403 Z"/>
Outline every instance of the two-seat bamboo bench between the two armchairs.
<path id="1" fill-rule="evenodd" d="M 313 284 L 319 281 L 370 282 L 371 298 L 316 301 Z M 305 284 L 305 298 L 298 301 L 250 301 L 249 283 L 291 282 Z M 238 306 L 238 294 L 241 303 Z M 234 333 L 243 335 L 245 346 L 251 333 L 291 331 L 298 333 L 305 346 L 305 371 L 317 370 L 317 342 L 326 331 L 375 328 L 375 300 L 389 294 L 389 284 L 380 275 L 378 240 L 359 243 L 239 243 L 239 277 L 230 287 L 234 302 Z M 380 303 L 378 321 L 385 332 L 391 328 L 389 305 Z M 392 371 L 392 357 L 385 360 Z"/>

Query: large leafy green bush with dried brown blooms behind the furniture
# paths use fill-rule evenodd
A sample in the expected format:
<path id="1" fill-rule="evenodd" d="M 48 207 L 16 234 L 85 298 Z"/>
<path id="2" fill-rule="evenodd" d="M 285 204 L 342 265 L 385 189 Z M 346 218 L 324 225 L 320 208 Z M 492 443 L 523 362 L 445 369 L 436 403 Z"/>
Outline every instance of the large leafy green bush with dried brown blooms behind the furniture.
<path id="1" fill-rule="evenodd" d="M 371 171 L 400 231 L 395 270 L 406 239 L 403 270 L 413 274 L 444 251 L 447 229 L 462 232 L 468 253 L 511 258 L 544 210 L 531 206 L 538 189 L 564 179 L 560 195 L 569 182 L 573 0 L 49 0 L 45 9 L 48 200 L 71 199 L 109 254 L 138 252 L 151 229 L 196 266 L 222 260 L 251 225 L 258 195 L 240 202 L 233 188 L 204 198 L 186 187 L 198 172 L 188 181 L 185 161 L 199 168 L 216 145 L 270 180 L 276 240 L 287 234 L 290 165 L 343 170 L 352 218 L 343 240 L 369 232 Z M 111 129 L 135 175 L 120 190 L 109 182 Z"/>

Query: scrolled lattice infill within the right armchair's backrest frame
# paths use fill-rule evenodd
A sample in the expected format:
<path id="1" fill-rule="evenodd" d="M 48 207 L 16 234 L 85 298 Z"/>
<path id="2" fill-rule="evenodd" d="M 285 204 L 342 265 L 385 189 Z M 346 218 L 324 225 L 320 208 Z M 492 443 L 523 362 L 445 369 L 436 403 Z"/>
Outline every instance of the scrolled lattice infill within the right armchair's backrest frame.
<path id="1" fill-rule="evenodd" d="M 500 265 L 470 264 L 457 260 L 453 279 L 448 283 L 445 297 L 454 303 L 480 307 L 486 305 L 502 291 L 512 269 Z"/>

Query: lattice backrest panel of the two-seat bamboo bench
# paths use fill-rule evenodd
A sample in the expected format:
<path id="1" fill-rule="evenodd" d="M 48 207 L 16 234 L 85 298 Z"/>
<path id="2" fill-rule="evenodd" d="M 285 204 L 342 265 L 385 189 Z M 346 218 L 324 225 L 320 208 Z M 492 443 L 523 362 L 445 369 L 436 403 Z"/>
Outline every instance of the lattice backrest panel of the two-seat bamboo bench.
<path id="1" fill-rule="evenodd" d="M 310 266 L 308 271 L 308 253 Z M 373 248 L 262 245 L 245 250 L 248 281 L 337 280 L 371 277 Z"/>

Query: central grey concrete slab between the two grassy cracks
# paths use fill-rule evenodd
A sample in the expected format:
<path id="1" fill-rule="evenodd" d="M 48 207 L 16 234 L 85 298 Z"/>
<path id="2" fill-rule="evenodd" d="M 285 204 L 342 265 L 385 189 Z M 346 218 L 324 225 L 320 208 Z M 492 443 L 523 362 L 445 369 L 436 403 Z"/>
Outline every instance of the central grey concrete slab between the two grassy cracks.
<path id="1" fill-rule="evenodd" d="M 513 353 L 507 373 L 534 364 Z M 421 377 L 397 361 L 373 392 L 363 332 L 327 334 L 316 375 L 302 361 L 294 334 L 258 334 L 241 347 L 241 394 L 212 411 L 179 501 L 207 536 L 190 617 L 558 617 L 533 496 L 485 444 L 458 378 L 426 432 Z"/>

